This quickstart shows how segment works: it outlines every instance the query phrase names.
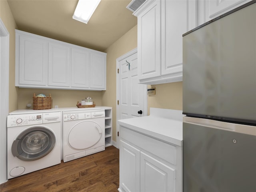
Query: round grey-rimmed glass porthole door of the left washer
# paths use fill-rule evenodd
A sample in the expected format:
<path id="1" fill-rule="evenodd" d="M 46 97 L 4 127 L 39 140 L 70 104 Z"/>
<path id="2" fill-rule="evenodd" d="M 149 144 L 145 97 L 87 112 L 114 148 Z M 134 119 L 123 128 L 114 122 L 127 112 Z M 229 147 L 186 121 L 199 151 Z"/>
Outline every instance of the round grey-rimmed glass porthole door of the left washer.
<path id="1" fill-rule="evenodd" d="M 24 130 L 12 143 L 12 154 L 25 161 L 46 156 L 55 146 L 54 133 L 45 127 Z"/>

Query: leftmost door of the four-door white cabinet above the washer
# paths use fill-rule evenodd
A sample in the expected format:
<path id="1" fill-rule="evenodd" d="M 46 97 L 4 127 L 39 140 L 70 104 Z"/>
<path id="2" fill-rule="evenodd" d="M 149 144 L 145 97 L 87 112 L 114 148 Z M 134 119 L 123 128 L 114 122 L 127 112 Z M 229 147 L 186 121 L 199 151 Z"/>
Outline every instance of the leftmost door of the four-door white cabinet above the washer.
<path id="1" fill-rule="evenodd" d="M 39 38 L 19 38 L 19 84 L 46 85 L 47 42 Z M 17 53 L 18 54 L 18 53 Z M 16 85 L 19 86 L 19 85 Z"/>

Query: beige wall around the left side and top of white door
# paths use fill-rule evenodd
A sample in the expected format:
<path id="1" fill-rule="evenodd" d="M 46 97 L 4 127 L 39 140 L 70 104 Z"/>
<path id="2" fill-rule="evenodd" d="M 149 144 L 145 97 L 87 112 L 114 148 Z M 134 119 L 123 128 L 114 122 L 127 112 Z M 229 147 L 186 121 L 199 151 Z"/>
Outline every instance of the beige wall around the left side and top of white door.
<path id="1" fill-rule="evenodd" d="M 116 141 L 116 59 L 137 47 L 137 26 L 106 49 L 107 90 L 102 94 L 102 105 L 112 107 L 112 132 Z"/>

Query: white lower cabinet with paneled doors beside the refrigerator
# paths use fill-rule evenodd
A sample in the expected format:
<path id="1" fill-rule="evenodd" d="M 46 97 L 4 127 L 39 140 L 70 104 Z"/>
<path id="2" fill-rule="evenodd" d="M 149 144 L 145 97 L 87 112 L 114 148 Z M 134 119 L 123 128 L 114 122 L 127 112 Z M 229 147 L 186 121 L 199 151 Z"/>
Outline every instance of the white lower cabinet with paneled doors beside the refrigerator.
<path id="1" fill-rule="evenodd" d="M 182 192 L 181 146 L 120 126 L 120 192 Z"/>

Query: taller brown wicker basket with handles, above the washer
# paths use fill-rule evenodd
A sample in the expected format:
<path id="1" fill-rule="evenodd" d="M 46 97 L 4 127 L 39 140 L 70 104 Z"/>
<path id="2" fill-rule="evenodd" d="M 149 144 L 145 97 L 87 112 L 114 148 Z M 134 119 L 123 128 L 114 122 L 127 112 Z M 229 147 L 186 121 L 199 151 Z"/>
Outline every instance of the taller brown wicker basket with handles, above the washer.
<path id="1" fill-rule="evenodd" d="M 33 109 L 43 110 L 43 109 L 51 109 L 51 108 L 52 108 L 51 94 L 49 94 L 49 97 L 36 97 L 36 94 L 33 95 Z"/>

